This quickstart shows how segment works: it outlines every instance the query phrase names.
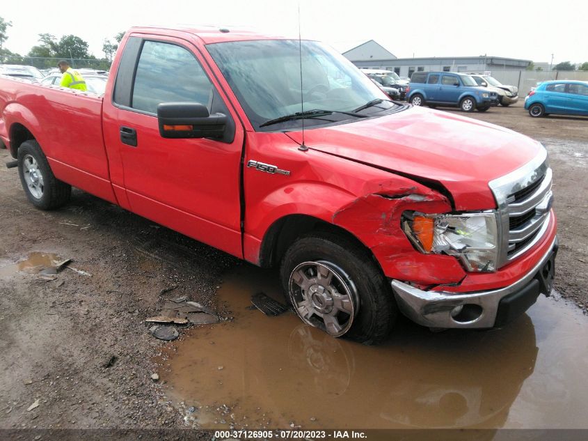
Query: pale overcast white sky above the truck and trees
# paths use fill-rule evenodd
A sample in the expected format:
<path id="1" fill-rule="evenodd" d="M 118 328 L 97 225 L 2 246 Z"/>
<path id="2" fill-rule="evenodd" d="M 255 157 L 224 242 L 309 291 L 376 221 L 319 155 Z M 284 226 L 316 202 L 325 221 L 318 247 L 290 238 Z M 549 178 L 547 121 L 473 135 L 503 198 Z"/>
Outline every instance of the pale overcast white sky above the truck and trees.
<path id="1" fill-rule="evenodd" d="M 21 55 L 39 33 L 74 34 L 102 57 L 104 38 L 141 24 L 205 24 L 321 40 L 340 52 L 376 40 L 399 58 L 504 56 L 588 61 L 588 1 L 558 0 L 1 0 L 13 22 L 5 47 Z M 65 7 L 64 7 L 65 6 Z M 84 13 L 79 13 L 83 10 Z M 299 15 L 300 10 L 300 15 Z"/>

